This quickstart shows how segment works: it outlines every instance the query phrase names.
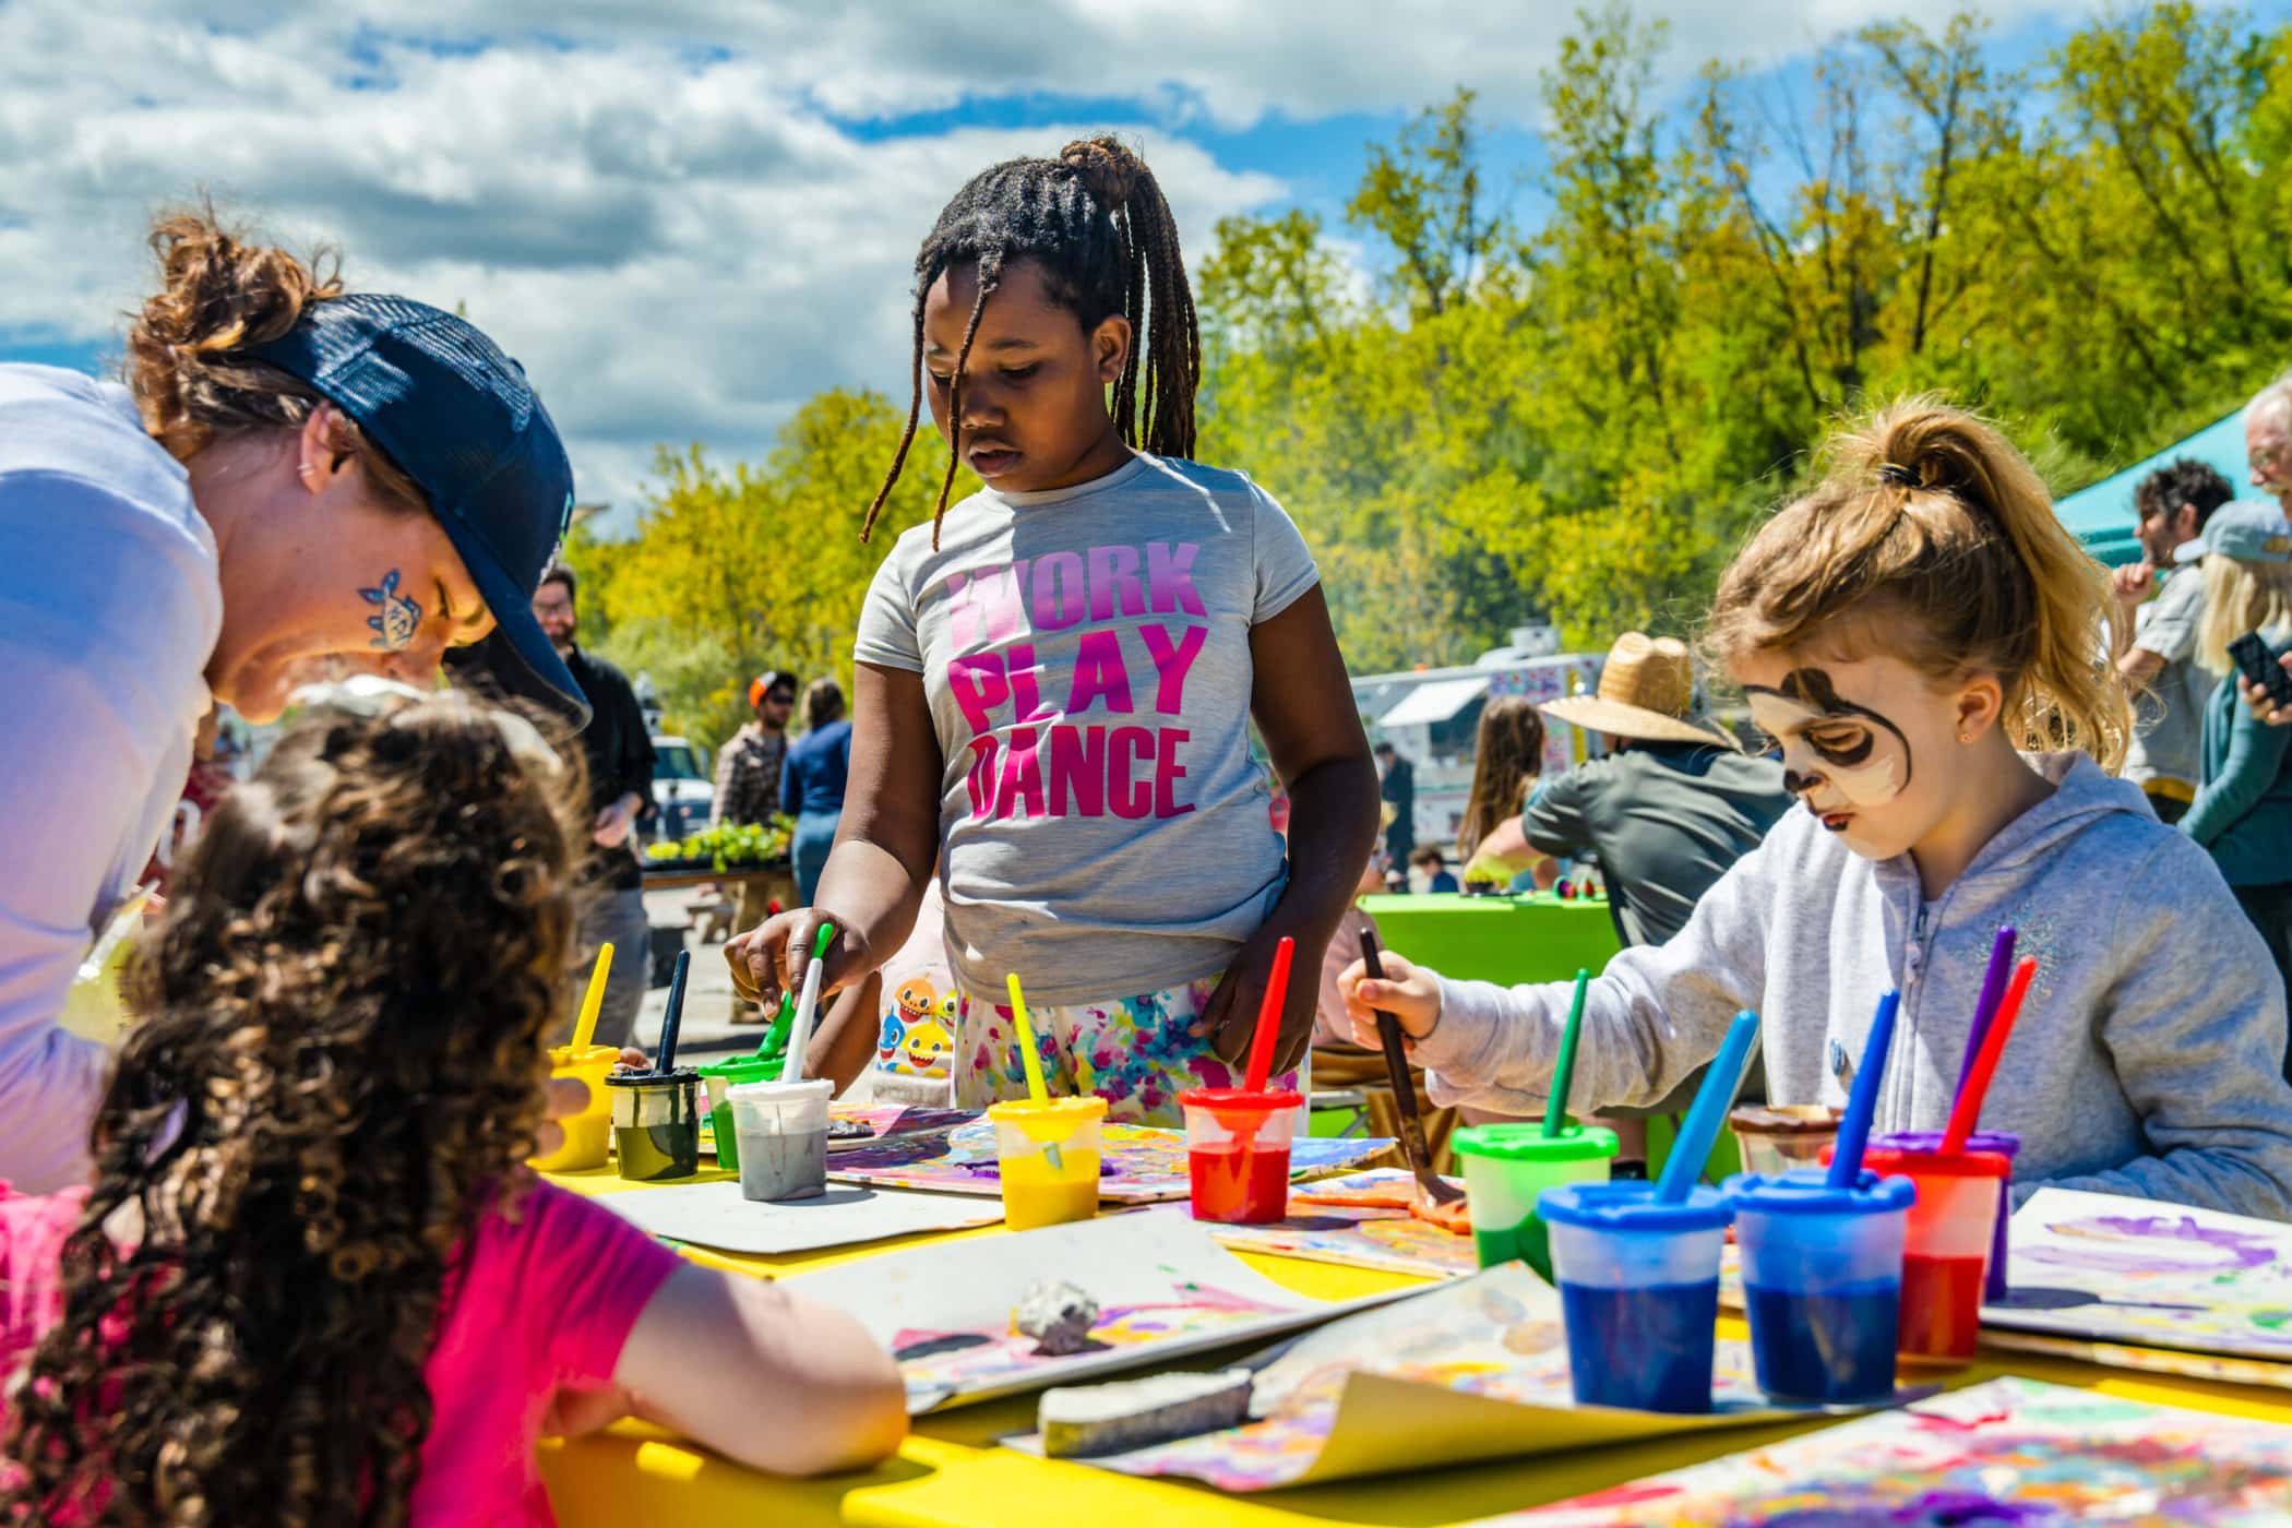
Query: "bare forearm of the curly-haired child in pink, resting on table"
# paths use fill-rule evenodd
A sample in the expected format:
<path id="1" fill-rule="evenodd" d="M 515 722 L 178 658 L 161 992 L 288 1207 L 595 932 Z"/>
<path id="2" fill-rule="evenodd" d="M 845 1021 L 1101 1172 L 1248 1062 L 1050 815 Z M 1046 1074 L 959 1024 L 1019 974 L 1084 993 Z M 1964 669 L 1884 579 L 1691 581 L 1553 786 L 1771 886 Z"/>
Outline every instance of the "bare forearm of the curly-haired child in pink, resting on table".
<path id="1" fill-rule="evenodd" d="M 859 1322 L 692 1262 L 646 1301 L 612 1381 L 637 1416 L 775 1475 L 864 1468 L 908 1436 L 898 1365 Z"/>

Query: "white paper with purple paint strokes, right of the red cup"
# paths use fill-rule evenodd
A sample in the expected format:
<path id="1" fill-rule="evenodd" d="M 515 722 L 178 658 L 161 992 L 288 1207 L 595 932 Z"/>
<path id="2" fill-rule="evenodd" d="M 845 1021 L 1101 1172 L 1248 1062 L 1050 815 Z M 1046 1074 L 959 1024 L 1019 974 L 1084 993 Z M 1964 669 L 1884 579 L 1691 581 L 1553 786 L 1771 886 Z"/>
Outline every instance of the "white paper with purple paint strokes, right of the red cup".
<path id="1" fill-rule="evenodd" d="M 2008 1285 L 1989 1329 L 2292 1361 L 2292 1226 L 2038 1189 L 2012 1216 Z"/>

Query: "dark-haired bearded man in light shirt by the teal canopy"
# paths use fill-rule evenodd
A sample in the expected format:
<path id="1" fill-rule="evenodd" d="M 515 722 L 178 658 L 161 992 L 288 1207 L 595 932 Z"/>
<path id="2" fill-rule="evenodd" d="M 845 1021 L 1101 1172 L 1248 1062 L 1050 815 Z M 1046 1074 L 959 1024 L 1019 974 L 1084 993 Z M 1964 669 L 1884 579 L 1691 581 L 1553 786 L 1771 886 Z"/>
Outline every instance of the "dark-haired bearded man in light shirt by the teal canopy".
<path id="1" fill-rule="evenodd" d="M 2258 470 L 2258 467 L 2255 467 Z M 2141 786 L 2164 822 L 2180 822 L 2196 800 L 2205 701 L 2214 678 L 2196 662 L 2196 628 L 2205 616 L 2205 580 L 2187 568 L 2164 580 L 2173 552 L 2196 541 L 2221 504 L 2228 479 L 2193 458 L 2150 472 L 2134 488 L 2141 561 L 2111 573 L 2118 596 L 2118 678 L 2134 699 L 2134 740 L 2125 779 Z M 2150 598 L 2150 596 L 2157 598 Z"/>

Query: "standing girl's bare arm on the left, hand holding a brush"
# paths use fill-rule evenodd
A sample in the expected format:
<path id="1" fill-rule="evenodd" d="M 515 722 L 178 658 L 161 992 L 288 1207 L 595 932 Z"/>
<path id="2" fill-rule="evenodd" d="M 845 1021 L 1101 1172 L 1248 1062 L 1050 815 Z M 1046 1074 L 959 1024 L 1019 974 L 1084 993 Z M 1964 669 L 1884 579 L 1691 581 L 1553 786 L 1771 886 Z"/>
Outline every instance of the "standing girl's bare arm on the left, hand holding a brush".
<path id="1" fill-rule="evenodd" d="M 823 921 L 837 926 L 821 992 L 837 992 L 882 964 L 915 928 L 924 882 L 940 859 L 940 733 L 924 676 L 857 664 L 853 671 L 853 763 L 843 820 L 811 907 L 784 912 L 724 942 L 733 987 L 777 1003 L 798 987 Z"/>

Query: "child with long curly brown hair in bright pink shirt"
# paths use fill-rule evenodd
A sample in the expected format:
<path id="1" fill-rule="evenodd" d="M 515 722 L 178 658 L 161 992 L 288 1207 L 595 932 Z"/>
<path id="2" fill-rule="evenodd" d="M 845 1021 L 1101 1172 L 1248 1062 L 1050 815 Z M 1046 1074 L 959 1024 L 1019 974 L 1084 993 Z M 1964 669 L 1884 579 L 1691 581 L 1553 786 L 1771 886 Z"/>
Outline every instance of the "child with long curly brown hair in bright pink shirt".
<path id="1" fill-rule="evenodd" d="M 587 825 L 520 717 L 319 717 L 128 974 L 92 1187 L 0 1184 L 0 1521 L 550 1523 L 635 1411 L 814 1473 L 905 1432 L 848 1315 L 520 1166 Z"/>

